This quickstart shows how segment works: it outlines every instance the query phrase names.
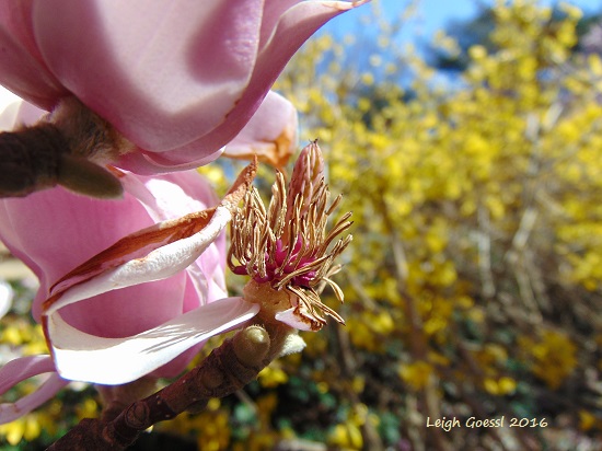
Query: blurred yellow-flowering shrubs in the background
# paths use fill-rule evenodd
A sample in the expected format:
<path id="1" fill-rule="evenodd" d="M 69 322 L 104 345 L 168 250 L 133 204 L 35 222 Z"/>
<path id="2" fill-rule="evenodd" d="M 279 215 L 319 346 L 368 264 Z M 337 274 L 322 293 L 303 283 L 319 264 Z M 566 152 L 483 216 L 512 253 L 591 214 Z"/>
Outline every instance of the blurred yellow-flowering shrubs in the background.
<path id="1" fill-rule="evenodd" d="M 302 354 L 137 449 L 602 448 L 600 18 L 495 2 L 425 56 L 396 41 L 403 18 L 371 14 L 375 39 L 310 39 L 276 85 L 302 139 L 320 140 L 340 213 L 354 212 L 345 304 L 323 294 L 347 325 L 304 333 Z M 231 164 L 201 172 L 223 189 Z M 2 356 L 39 352 L 15 308 Z M 94 391 L 76 389 L 0 426 L 0 447 L 39 449 L 95 415 Z M 506 427 L 426 427 L 454 416 Z"/>

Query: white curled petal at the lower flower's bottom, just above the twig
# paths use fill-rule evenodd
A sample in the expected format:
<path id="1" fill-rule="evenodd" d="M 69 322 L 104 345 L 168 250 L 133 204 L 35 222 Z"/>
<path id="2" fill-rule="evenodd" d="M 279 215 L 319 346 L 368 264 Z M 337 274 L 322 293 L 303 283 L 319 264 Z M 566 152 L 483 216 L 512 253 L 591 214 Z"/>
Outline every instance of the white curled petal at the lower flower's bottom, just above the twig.
<path id="1" fill-rule="evenodd" d="M 258 311 L 257 304 L 243 298 L 225 298 L 125 338 L 85 334 L 67 324 L 59 313 L 48 316 L 45 326 L 62 378 L 113 385 L 148 374 L 196 344 L 239 326 Z"/>

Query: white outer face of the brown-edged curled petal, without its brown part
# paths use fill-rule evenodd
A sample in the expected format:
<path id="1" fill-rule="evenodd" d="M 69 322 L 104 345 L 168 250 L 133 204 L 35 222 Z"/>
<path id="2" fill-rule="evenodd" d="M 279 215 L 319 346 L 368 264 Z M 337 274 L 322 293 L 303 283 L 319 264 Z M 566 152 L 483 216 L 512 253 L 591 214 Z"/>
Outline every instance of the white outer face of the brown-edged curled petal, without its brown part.
<path id="1" fill-rule="evenodd" d="M 159 247 L 146 257 L 136 258 L 106 270 L 96 277 L 67 288 L 66 291 L 54 293 L 44 302 L 43 314 L 49 315 L 65 305 L 111 290 L 173 276 L 193 264 L 231 219 L 232 215 L 229 208 L 218 207 L 207 227 L 194 235 Z"/>

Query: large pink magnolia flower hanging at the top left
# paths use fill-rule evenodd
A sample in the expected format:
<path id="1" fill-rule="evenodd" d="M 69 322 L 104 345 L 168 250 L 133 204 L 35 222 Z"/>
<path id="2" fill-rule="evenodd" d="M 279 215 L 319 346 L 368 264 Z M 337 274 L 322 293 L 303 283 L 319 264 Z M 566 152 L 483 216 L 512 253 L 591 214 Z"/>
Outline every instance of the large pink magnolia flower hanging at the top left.
<path id="1" fill-rule="evenodd" d="M 119 167 L 189 169 L 219 157 L 266 95 L 261 123 L 281 141 L 291 107 L 268 94 L 275 79 L 366 1 L 0 0 L 0 83 L 46 111 L 79 99 L 134 144 Z"/>

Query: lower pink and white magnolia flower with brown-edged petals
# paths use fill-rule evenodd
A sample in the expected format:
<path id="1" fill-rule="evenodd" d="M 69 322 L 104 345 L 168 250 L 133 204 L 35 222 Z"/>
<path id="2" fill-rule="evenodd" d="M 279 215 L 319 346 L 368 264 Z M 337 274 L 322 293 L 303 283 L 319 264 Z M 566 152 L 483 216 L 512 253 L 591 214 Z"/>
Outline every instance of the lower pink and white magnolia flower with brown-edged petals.
<path id="1" fill-rule="evenodd" d="M 35 120 L 33 107 L 21 112 Z M 12 122 L 7 116 L 0 125 Z M 222 230 L 230 213 L 198 173 L 115 172 L 125 188 L 119 200 L 61 187 L 0 200 L 0 240 L 39 278 L 33 314 L 54 354 L 0 369 L 0 394 L 23 379 L 51 374 L 34 394 L 0 405 L 0 423 L 51 397 L 65 379 L 120 384 L 147 374 L 174 377 L 204 340 L 258 311 L 227 297 Z M 167 251 L 153 254 L 161 246 Z M 86 274 L 105 277 L 89 289 L 82 273 L 71 270 L 96 254 L 102 263 L 91 261 Z M 54 301 L 44 305 L 49 293 Z"/>

